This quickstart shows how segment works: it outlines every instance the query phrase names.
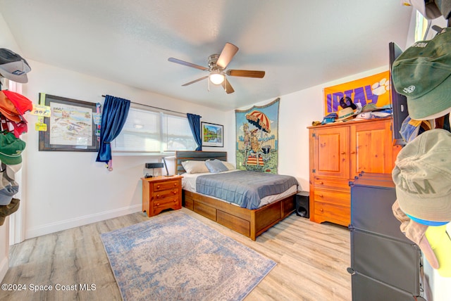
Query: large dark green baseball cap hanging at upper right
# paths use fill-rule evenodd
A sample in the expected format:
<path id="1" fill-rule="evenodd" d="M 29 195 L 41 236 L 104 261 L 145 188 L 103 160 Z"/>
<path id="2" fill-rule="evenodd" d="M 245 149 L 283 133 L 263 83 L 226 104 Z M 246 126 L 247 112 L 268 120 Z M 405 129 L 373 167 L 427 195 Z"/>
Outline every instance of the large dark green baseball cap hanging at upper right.
<path id="1" fill-rule="evenodd" d="M 414 120 L 451 108 L 451 27 L 429 41 L 417 41 L 398 56 L 392 80 L 397 93 L 407 97 Z"/>

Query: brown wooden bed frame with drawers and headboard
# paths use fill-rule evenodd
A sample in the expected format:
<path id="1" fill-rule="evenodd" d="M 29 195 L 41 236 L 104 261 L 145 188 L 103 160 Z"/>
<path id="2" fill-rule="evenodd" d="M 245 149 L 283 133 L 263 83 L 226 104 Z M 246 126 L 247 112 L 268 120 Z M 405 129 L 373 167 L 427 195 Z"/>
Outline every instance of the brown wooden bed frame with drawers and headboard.
<path id="1" fill-rule="evenodd" d="M 227 152 L 176 151 L 175 174 L 185 172 L 183 161 L 207 159 L 227 161 Z M 250 210 L 183 190 L 183 206 L 255 241 L 257 236 L 295 211 L 295 194 L 296 192 L 258 209 Z"/>

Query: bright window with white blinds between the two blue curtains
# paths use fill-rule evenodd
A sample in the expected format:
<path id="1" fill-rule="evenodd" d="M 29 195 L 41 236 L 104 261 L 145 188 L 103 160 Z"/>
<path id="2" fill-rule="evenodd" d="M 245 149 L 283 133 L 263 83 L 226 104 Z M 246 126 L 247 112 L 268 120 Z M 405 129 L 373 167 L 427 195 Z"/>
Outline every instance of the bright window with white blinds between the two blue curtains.
<path id="1" fill-rule="evenodd" d="M 187 117 L 133 105 L 111 148 L 114 152 L 168 153 L 194 150 L 197 144 Z"/>

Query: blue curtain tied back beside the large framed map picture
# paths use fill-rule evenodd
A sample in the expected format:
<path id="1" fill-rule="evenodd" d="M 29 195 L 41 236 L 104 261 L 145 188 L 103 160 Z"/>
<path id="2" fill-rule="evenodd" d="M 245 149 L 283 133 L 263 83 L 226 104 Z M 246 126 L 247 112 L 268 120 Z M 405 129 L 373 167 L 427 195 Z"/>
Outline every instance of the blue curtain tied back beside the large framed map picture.
<path id="1" fill-rule="evenodd" d="M 114 96 L 105 96 L 104 110 L 101 115 L 100 146 L 96 162 L 108 162 L 109 170 L 113 169 L 111 161 L 111 141 L 113 141 L 127 120 L 130 101 Z"/>

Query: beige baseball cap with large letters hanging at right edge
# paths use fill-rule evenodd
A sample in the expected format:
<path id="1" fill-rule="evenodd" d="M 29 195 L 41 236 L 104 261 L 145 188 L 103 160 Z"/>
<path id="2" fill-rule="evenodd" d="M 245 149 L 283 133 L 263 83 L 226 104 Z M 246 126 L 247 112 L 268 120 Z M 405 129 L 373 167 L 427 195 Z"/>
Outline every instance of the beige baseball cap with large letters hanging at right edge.
<path id="1" fill-rule="evenodd" d="M 451 133 L 431 129 L 398 153 L 392 176 L 405 214 L 433 222 L 451 221 Z"/>

